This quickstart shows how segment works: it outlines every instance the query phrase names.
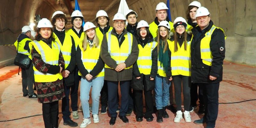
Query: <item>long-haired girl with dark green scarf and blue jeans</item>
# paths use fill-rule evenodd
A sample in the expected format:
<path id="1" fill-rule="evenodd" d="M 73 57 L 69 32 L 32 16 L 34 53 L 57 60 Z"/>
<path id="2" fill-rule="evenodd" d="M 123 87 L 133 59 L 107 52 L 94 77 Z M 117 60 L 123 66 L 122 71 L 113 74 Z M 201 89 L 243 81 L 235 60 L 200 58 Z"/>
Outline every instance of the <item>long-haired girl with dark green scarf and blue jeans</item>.
<path id="1" fill-rule="evenodd" d="M 161 21 L 158 25 L 157 38 L 157 76 L 155 87 L 157 118 L 156 122 L 163 122 L 164 118 L 169 118 L 166 108 L 169 102 L 169 87 L 171 86 L 172 73 L 170 67 L 171 51 L 169 50 L 168 35 L 170 32 L 170 24 L 168 21 Z"/>

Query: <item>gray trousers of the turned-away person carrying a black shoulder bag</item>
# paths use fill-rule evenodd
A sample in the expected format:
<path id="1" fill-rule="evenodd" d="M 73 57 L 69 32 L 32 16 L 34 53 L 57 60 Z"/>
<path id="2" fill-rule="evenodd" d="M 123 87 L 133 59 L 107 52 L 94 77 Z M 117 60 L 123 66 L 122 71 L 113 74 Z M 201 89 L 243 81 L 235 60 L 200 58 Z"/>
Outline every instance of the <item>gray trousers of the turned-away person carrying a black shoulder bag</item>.
<path id="1" fill-rule="evenodd" d="M 34 70 L 33 70 L 33 64 L 32 62 L 30 63 L 30 66 L 28 69 L 21 68 L 21 77 L 22 77 L 22 92 L 23 95 L 27 94 L 28 95 L 33 95 L 34 90 L 33 90 L 33 83 L 35 81 L 34 77 Z M 27 90 L 28 87 L 28 90 Z"/>

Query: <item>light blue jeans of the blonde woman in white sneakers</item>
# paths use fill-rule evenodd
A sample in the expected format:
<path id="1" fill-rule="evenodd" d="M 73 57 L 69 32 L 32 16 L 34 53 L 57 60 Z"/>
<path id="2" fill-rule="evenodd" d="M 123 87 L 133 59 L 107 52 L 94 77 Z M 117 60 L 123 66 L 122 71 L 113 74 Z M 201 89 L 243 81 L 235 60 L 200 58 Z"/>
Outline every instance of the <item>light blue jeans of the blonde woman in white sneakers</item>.
<path id="1" fill-rule="evenodd" d="M 98 115 L 100 103 L 100 91 L 104 83 L 104 76 L 94 77 L 88 81 L 85 77 L 81 78 L 80 100 L 82 103 L 84 118 L 90 117 L 89 94 L 92 87 L 92 115 Z"/>

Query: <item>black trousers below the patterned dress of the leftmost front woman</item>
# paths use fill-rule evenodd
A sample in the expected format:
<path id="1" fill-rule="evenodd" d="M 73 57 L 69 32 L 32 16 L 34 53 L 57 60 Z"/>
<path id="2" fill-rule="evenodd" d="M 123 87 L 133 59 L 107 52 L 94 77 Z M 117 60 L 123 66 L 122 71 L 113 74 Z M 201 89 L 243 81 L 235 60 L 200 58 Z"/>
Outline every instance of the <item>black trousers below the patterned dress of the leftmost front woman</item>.
<path id="1" fill-rule="evenodd" d="M 42 110 L 43 110 L 44 127 L 52 128 L 52 125 L 57 126 L 58 115 L 59 115 L 59 101 L 54 101 L 51 103 L 43 103 Z"/>

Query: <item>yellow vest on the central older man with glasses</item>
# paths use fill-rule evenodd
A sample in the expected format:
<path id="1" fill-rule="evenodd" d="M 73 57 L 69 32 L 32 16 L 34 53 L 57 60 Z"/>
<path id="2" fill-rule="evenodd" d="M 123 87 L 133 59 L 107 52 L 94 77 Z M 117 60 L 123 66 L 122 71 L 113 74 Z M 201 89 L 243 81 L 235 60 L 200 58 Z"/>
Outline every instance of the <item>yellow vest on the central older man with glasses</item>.
<path id="1" fill-rule="evenodd" d="M 108 41 L 108 53 L 110 54 L 111 58 L 116 60 L 116 64 L 125 62 L 125 60 L 132 52 L 132 34 L 128 32 L 124 35 L 125 40 L 120 47 L 117 37 L 115 35 L 112 35 L 111 31 L 106 33 L 106 37 Z M 110 67 L 105 63 L 105 68 Z M 124 69 L 129 68 L 132 68 L 132 65 Z"/>

